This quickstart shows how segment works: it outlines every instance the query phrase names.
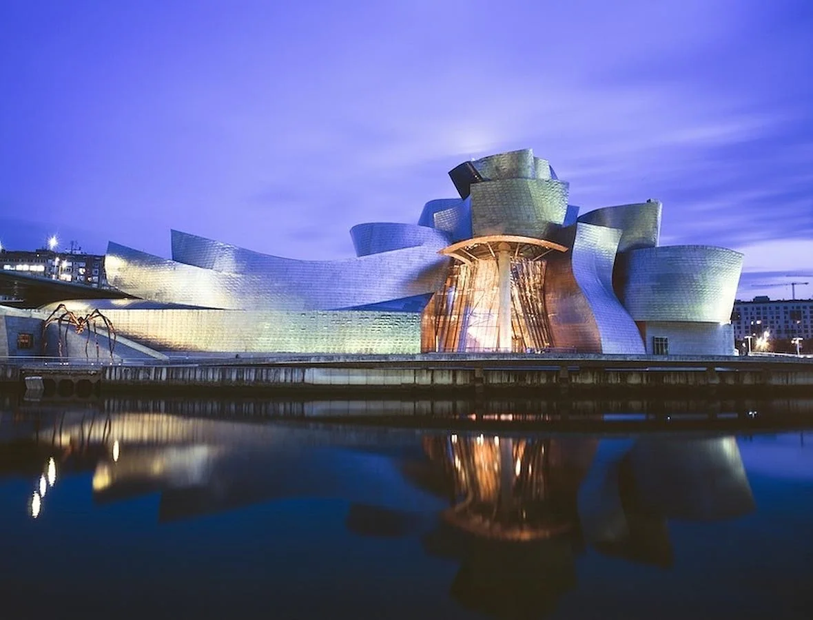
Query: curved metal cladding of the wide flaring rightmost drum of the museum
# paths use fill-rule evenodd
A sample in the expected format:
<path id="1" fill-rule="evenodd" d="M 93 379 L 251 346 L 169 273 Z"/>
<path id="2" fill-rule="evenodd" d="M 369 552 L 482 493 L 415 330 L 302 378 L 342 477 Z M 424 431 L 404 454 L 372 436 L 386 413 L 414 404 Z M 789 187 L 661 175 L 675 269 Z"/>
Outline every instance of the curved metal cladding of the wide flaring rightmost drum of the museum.
<path id="1" fill-rule="evenodd" d="M 709 245 L 671 245 L 620 254 L 616 290 L 636 321 L 728 323 L 742 254 Z"/>

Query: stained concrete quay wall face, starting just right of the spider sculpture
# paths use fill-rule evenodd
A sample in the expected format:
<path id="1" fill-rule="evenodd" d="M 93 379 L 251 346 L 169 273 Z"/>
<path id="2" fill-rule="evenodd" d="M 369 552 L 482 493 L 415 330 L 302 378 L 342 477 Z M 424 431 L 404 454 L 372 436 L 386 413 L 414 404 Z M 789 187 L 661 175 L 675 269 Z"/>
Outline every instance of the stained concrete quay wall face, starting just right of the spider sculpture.
<path id="1" fill-rule="evenodd" d="M 813 365 L 721 369 L 602 366 L 109 366 L 102 388 L 811 388 Z"/>

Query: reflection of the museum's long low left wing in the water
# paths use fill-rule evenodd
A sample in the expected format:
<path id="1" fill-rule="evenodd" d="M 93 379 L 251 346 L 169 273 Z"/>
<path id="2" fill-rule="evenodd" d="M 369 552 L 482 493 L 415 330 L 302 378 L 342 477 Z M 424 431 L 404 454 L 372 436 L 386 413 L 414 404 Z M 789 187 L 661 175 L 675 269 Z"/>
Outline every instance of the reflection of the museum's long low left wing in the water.
<path id="1" fill-rule="evenodd" d="M 101 425 L 100 425 L 101 426 Z M 98 503 L 160 494 L 159 522 L 194 518 L 294 497 L 354 504 L 349 524 L 381 521 L 383 512 L 424 496 L 405 483 L 392 454 L 420 454 L 414 431 L 310 428 L 122 414 L 111 418 L 93 471 Z M 64 427 L 69 434 L 75 429 Z M 113 439 L 115 437 L 115 439 Z M 393 482 L 400 481 L 400 486 Z M 406 495 L 405 495 L 406 494 Z M 435 501 L 438 507 L 440 501 Z M 364 514 L 364 507 L 373 510 Z M 390 524 L 389 529 L 398 529 Z"/>

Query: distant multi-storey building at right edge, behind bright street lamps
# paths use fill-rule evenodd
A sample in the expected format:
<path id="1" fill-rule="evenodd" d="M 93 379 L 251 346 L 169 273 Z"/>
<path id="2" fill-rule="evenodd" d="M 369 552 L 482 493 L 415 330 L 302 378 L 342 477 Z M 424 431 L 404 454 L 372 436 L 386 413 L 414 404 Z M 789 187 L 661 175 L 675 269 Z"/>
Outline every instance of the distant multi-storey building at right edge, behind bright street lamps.
<path id="1" fill-rule="evenodd" d="M 734 337 L 738 342 L 748 336 L 767 341 L 813 338 L 813 300 L 811 299 L 770 299 L 754 297 L 753 301 L 734 302 L 732 324 Z M 753 345 L 753 342 L 752 342 Z M 813 342 L 811 342 L 813 345 Z"/>

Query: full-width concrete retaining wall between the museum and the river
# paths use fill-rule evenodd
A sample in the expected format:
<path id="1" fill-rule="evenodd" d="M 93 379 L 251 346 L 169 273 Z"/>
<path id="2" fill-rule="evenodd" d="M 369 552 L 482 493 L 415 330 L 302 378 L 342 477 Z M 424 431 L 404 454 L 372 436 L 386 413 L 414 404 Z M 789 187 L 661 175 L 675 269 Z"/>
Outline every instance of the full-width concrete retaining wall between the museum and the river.
<path id="1" fill-rule="evenodd" d="M 716 366 L 646 366 L 615 360 L 457 360 L 411 362 L 185 363 L 37 367 L 0 364 L 0 381 L 23 384 L 41 375 L 57 382 L 89 379 L 102 392 L 183 388 L 326 390 L 592 390 L 644 388 L 793 388 L 813 392 L 813 363 L 748 362 Z M 95 387 L 95 386 L 94 386 Z"/>

